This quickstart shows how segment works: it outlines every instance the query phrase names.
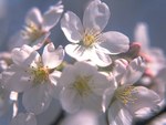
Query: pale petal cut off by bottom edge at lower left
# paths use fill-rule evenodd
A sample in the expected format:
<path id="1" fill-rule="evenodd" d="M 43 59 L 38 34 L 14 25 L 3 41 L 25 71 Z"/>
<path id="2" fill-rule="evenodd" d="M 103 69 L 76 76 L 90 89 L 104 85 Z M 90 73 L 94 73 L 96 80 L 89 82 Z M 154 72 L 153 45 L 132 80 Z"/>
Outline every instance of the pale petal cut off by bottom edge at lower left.
<path id="1" fill-rule="evenodd" d="M 19 113 L 11 119 L 10 125 L 37 125 L 37 119 L 32 113 Z"/>

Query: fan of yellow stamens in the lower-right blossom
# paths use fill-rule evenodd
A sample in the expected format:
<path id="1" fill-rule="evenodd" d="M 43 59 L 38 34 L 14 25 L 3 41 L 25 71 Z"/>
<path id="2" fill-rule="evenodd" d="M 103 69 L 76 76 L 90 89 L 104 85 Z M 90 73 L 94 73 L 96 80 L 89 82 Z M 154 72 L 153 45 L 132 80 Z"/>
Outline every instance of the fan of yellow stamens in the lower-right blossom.
<path id="1" fill-rule="evenodd" d="M 135 86 L 121 86 L 116 90 L 115 96 L 123 104 L 134 103 L 137 98 L 134 97 L 133 93 L 136 92 Z"/>

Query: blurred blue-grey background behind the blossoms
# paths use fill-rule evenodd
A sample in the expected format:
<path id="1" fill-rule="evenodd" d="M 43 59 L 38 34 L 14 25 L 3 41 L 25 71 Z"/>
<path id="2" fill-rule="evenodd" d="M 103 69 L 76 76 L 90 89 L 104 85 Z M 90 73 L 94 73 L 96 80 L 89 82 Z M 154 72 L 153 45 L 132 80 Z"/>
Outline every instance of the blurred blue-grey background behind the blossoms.
<path id="1" fill-rule="evenodd" d="M 82 19 L 84 8 L 89 0 L 62 1 L 65 11 L 73 11 Z M 135 27 L 139 22 L 145 22 L 148 25 L 148 34 L 152 46 L 163 49 L 166 54 L 166 0 L 102 1 L 106 2 L 111 10 L 111 19 L 105 31 L 111 30 L 122 32 L 129 38 L 131 42 L 135 42 Z M 8 44 L 12 44 L 11 42 L 14 42 L 10 41 L 10 39 L 19 30 L 23 29 L 25 14 L 32 7 L 38 7 L 42 12 L 44 12 L 50 6 L 55 4 L 56 2 L 58 0 L 0 0 L 0 51 L 7 51 Z M 52 29 L 51 40 L 55 45 L 65 45 L 68 43 L 60 29 L 60 24 Z M 60 104 L 56 101 L 53 101 L 45 114 L 38 118 L 48 118 L 48 121 L 53 121 L 58 117 L 60 112 L 59 108 Z M 8 125 L 8 119 L 9 117 L 1 117 L 0 125 Z M 145 123 L 139 123 L 139 125 L 143 124 Z M 39 123 L 39 125 L 49 125 L 49 123 Z M 166 122 L 162 125 L 166 125 Z"/>

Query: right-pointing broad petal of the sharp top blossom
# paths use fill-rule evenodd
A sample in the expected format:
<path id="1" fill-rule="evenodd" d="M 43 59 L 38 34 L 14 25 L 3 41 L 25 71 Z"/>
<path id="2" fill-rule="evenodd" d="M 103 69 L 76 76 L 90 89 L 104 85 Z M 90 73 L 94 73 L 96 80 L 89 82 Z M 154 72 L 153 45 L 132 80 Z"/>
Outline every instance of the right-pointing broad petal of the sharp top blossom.
<path id="1" fill-rule="evenodd" d="M 129 49 L 128 38 L 120 32 L 110 31 L 102 34 L 101 46 L 107 49 L 112 54 L 126 52 Z"/>

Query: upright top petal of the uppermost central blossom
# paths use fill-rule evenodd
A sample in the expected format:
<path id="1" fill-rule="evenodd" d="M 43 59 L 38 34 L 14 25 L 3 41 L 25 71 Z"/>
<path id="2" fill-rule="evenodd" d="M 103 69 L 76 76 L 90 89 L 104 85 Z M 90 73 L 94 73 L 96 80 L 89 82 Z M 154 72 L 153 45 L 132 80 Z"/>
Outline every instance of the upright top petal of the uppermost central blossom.
<path id="1" fill-rule="evenodd" d="M 102 31 L 110 19 L 110 9 L 100 0 L 92 1 L 85 9 L 83 25 L 85 29 Z"/>

